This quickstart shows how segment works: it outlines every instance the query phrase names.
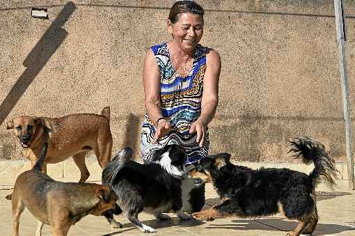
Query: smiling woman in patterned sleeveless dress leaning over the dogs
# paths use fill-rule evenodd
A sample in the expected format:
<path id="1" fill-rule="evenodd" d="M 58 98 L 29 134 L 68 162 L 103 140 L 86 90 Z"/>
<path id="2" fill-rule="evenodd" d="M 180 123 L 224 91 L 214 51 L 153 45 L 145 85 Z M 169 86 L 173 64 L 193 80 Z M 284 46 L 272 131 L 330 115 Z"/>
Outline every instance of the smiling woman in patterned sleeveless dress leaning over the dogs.
<path id="1" fill-rule="evenodd" d="M 198 44 L 203 36 L 203 8 L 194 1 L 176 1 L 168 17 L 172 40 L 150 48 L 145 56 L 143 86 L 145 120 L 141 152 L 145 162 L 161 146 L 178 143 L 187 151 L 187 168 L 205 157 L 207 125 L 218 104 L 221 58 Z M 205 204 L 205 187 L 182 181 L 185 212 Z"/>

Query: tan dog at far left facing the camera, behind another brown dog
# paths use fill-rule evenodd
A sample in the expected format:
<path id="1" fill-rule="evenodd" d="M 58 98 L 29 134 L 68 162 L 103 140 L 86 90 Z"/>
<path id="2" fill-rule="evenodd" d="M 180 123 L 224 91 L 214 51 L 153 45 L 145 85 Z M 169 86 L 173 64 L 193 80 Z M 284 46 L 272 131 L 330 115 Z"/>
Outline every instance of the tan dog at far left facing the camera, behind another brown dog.
<path id="1" fill-rule="evenodd" d="M 46 164 L 62 162 L 73 157 L 80 169 L 79 182 L 85 182 L 90 173 L 85 164 L 88 150 L 94 150 L 101 168 L 111 159 L 112 135 L 110 108 L 104 107 L 101 115 L 92 113 L 70 114 L 59 118 L 19 116 L 8 123 L 7 129 L 15 134 L 24 148 L 23 155 L 34 166 L 44 143 L 48 143 Z"/>

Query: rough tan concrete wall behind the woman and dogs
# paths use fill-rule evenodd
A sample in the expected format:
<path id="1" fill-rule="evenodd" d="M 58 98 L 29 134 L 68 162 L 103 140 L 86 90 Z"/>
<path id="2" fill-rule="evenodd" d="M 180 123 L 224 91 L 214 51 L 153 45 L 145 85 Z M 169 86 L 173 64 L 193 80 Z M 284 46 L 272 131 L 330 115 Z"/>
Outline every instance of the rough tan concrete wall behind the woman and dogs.
<path id="1" fill-rule="evenodd" d="M 0 0 L 0 157 L 21 157 L 5 129 L 15 116 L 99 113 L 107 105 L 113 152 L 139 150 L 143 58 L 169 40 L 174 1 L 31 2 Z M 206 10 L 201 44 L 223 63 L 210 152 L 287 162 L 287 139 L 306 135 L 345 155 L 333 1 L 198 2 Z M 355 2 L 346 4 L 354 104 Z M 48 8 L 49 19 L 31 18 L 32 7 Z"/>

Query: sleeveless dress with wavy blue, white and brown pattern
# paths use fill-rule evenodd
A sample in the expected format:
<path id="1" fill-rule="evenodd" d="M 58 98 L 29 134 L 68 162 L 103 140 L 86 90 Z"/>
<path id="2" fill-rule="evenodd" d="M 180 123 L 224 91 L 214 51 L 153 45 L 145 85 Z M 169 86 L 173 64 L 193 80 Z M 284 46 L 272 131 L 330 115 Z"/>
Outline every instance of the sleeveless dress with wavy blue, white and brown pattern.
<path id="1" fill-rule="evenodd" d="M 206 157 L 210 146 L 208 129 L 205 133 L 205 144 L 202 148 L 196 143 L 197 134 L 189 134 L 191 124 L 201 113 L 201 99 L 203 93 L 203 77 L 206 69 L 206 48 L 197 45 L 194 62 L 187 77 L 181 77 L 171 65 L 167 43 L 151 47 L 155 54 L 160 72 L 160 102 L 161 112 L 172 127 L 168 134 L 161 137 L 158 143 L 154 141 L 156 127 L 145 113 L 141 128 L 141 155 L 149 162 L 152 154 L 168 144 L 183 145 L 187 151 L 187 162 L 191 164 Z"/>

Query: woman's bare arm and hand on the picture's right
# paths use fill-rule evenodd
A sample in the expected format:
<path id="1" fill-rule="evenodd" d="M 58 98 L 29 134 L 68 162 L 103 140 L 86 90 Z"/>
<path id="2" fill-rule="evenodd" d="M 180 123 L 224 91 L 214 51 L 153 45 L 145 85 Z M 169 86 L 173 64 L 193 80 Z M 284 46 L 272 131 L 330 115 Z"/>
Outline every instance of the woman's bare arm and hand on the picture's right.
<path id="1" fill-rule="evenodd" d="M 206 70 L 203 78 L 203 94 L 201 115 L 190 128 L 190 134 L 197 133 L 196 142 L 200 147 L 205 143 L 205 130 L 216 113 L 218 105 L 219 74 L 221 73 L 221 57 L 213 49 L 206 54 Z"/>

